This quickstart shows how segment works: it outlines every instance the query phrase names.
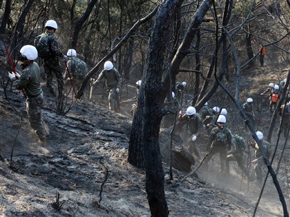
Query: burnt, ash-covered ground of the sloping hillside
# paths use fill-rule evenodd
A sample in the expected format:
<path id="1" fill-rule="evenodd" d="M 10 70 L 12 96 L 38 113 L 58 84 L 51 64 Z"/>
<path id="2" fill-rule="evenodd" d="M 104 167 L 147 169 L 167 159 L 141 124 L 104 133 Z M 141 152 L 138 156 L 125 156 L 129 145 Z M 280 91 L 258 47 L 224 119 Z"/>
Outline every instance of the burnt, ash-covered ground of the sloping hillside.
<path id="1" fill-rule="evenodd" d="M 255 113 L 260 120 L 258 129 L 265 134 L 271 117 L 268 100 L 259 94 L 270 82 L 286 77 L 286 72 L 278 77 L 271 73 L 272 70 L 266 65 L 242 72 L 240 102 L 244 103 L 249 96 L 254 99 Z M 1 70 L 1 81 L 3 73 Z M 64 115 L 57 112 L 55 99 L 48 97 L 44 83 L 46 99 L 42 115 L 50 132 L 46 145 L 37 143 L 21 92 L 10 90 L 8 85 L 6 98 L 3 87 L 0 89 L 0 216 L 151 216 L 144 189 L 145 173 L 127 162 L 133 103 L 122 104 L 121 113 L 110 112 L 106 94 L 99 87 L 94 91 L 93 100 L 73 103 Z M 234 92 L 234 78 L 227 87 Z M 128 92 L 123 93 L 123 100 L 132 98 L 134 85 L 128 85 Z M 70 104 L 69 100 L 67 105 Z M 226 107 L 231 130 L 251 138 L 243 131 L 242 118 L 222 90 L 209 105 Z M 276 131 L 271 141 L 273 149 Z M 173 168 L 171 180 L 168 157 L 164 156 L 170 144 L 168 130 L 161 129 L 160 141 L 169 216 L 253 216 L 261 186 L 248 183 L 236 163 L 231 163 L 229 175 L 221 174 L 219 156 L 214 156 L 207 170 L 200 167 L 195 176 L 183 181 L 189 173 Z M 284 141 L 282 136 L 273 161 L 274 169 Z M 202 154 L 206 153 L 204 142 L 200 141 L 198 147 Z M 249 159 L 252 159 L 253 150 L 250 151 Z M 289 154 L 288 142 L 278 174 L 287 207 L 290 206 Z M 191 169 L 195 167 L 197 163 Z M 264 173 L 266 171 L 264 167 Z M 256 216 L 283 216 L 271 177 Z"/>

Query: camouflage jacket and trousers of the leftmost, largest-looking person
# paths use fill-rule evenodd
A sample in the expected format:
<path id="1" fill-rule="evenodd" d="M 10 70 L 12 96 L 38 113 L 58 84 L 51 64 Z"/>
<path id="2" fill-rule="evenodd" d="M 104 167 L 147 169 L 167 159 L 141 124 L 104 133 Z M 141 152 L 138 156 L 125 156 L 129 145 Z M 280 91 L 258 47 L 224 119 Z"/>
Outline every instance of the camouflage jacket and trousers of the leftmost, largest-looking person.
<path id="1" fill-rule="evenodd" d="M 18 81 L 14 84 L 18 90 L 24 88 L 26 92 L 26 110 L 29 117 L 29 123 L 41 141 L 45 140 L 46 132 L 41 119 L 41 107 L 43 105 L 43 93 L 40 86 L 40 70 L 37 63 L 21 64 L 23 72 Z"/>

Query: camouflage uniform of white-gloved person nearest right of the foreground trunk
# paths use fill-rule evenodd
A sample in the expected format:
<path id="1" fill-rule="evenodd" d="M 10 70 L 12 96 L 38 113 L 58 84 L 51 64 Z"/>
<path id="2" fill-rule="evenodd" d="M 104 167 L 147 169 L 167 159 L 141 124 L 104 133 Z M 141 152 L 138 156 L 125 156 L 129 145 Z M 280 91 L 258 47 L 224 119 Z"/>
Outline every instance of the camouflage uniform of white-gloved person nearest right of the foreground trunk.
<path id="1" fill-rule="evenodd" d="M 199 130 L 199 127 L 202 126 L 202 116 L 200 114 L 196 113 L 194 115 L 187 115 L 184 114 L 182 116 L 181 120 L 179 123 L 176 125 L 176 129 L 179 129 L 180 127 L 187 125 L 188 127 L 188 140 L 187 140 L 187 145 L 189 148 L 189 154 L 195 154 L 198 159 L 200 159 L 200 152 L 198 151 L 196 147 L 196 141 L 192 141 L 193 136 L 197 136 L 197 132 Z M 197 137 L 198 138 L 198 137 Z"/>

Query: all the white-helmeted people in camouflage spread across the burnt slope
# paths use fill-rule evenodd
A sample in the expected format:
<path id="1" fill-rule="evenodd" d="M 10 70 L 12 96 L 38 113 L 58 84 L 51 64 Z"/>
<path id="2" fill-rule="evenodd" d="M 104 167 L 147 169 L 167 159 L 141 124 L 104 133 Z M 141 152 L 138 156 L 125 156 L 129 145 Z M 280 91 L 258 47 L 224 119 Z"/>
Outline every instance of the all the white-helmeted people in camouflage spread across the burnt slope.
<path id="1" fill-rule="evenodd" d="M 68 50 L 67 56 L 62 54 L 59 51 L 59 45 L 57 43 L 57 39 L 54 36 L 54 32 L 57 30 L 57 23 L 55 21 L 48 21 L 46 23 L 46 34 L 50 37 L 49 41 L 52 41 L 51 50 L 52 53 L 50 56 L 43 58 L 45 73 L 46 73 L 46 84 L 48 86 L 48 90 L 50 94 L 55 95 L 55 91 L 52 88 L 52 72 L 57 76 L 57 84 L 59 90 L 59 96 L 62 96 L 64 91 L 64 74 L 61 72 L 59 59 L 58 57 L 62 57 L 66 63 L 68 61 L 72 61 L 72 59 L 76 59 L 77 52 L 73 49 Z M 25 90 L 26 99 L 27 99 L 27 112 L 30 121 L 31 127 L 37 133 L 39 140 L 42 143 L 46 143 L 46 130 L 43 125 L 43 121 L 41 118 L 41 106 L 43 103 L 43 92 L 41 90 L 41 79 L 40 79 L 40 70 L 39 66 L 35 62 L 35 59 L 39 57 L 37 48 L 32 45 L 25 45 L 20 50 L 21 56 L 20 61 L 22 61 L 21 68 L 23 69 L 22 74 L 18 74 L 17 72 L 9 73 L 9 78 L 14 81 L 17 89 Z M 72 63 L 68 62 L 66 65 L 67 71 L 66 76 L 70 76 L 70 81 L 74 79 L 74 82 L 77 86 L 81 83 L 77 83 L 77 79 L 84 78 L 84 76 L 77 76 L 72 78 L 69 74 L 71 72 L 77 71 L 76 68 L 72 68 Z M 53 68 L 52 68 L 53 65 Z M 83 61 L 75 61 L 75 65 L 77 68 L 81 68 L 84 71 L 84 75 L 88 72 L 88 68 Z M 85 72 L 86 71 L 86 72 Z M 114 68 L 113 63 L 110 61 L 106 61 L 104 64 L 104 70 L 101 71 L 96 81 L 93 82 L 93 85 L 99 83 L 102 79 L 106 80 L 106 86 L 108 87 L 108 101 L 110 110 L 115 110 L 115 112 L 119 112 L 120 110 L 120 101 L 119 101 L 119 92 L 121 87 L 121 76 L 119 72 Z M 133 104 L 131 114 L 134 116 L 135 111 L 137 109 L 137 95 L 139 92 L 139 87 L 141 86 L 142 81 L 137 81 L 136 87 L 137 92 L 135 96 L 136 103 Z M 270 97 L 270 112 L 273 112 L 273 107 L 276 106 L 279 96 L 284 88 L 286 83 L 286 79 L 281 81 L 280 83 L 273 85 L 273 83 L 269 84 L 269 89 L 267 89 L 262 94 L 267 94 L 269 92 Z M 73 86 L 74 87 L 74 86 Z M 76 87 L 77 88 L 77 87 Z M 166 99 L 164 102 L 164 109 L 171 110 L 172 113 L 177 113 L 179 109 L 179 105 L 182 105 L 184 94 L 186 93 L 186 82 L 178 82 L 175 85 L 175 92 L 172 92 L 170 99 Z M 186 104 L 187 102 L 185 102 Z M 253 99 L 247 99 L 247 102 L 242 105 L 242 109 L 245 114 L 249 118 L 249 121 L 254 124 L 255 114 L 253 112 Z M 287 127 L 289 127 L 289 118 L 290 118 L 290 103 L 287 103 L 287 106 L 284 107 L 285 114 L 287 114 L 287 118 L 285 118 L 284 122 L 284 135 L 286 136 Z M 200 151 L 197 148 L 197 142 L 201 141 L 201 139 L 206 138 L 206 151 L 209 152 L 209 156 L 204 159 L 204 164 L 208 163 L 216 153 L 220 154 L 220 171 L 224 173 L 229 173 L 229 161 L 236 161 L 239 167 L 242 169 L 242 172 L 252 180 L 251 175 L 249 174 L 249 170 L 244 166 L 245 161 L 245 150 L 247 147 L 247 142 L 242 138 L 242 136 L 238 134 L 233 134 L 231 130 L 229 130 L 228 125 L 226 124 L 226 109 L 220 110 L 219 107 L 215 106 L 213 108 L 209 107 L 208 103 L 205 103 L 200 111 L 200 114 L 197 113 L 195 107 L 189 106 L 186 109 L 185 114 L 180 112 L 180 117 L 177 121 L 175 134 L 182 134 L 182 127 L 186 126 L 187 130 L 184 130 L 186 133 L 186 146 L 189 150 L 189 154 L 195 154 L 198 161 L 201 161 Z M 169 118 L 168 118 L 169 117 Z M 168 120 L 166 121 L 166 116 L 164 117 L 163 127 L 170 127 L 173 125 L 175 116 L 168 115 Z M 204 130 L 202 130 L 202 128 Z M 245 130 L 247 130 L 247 126 L 245 126 Z M 187 131 L 187 132 L 186 132 Z M 264 151 L 267 153 L 269 157 L 271 155 L 271 145 L 264 140 L 264 135 L 262 132 L 255 132 Z M 260 183 L 262 182 L 262 153 L 261 149 L 257 143 L 250 144 L 255 148 L 255 159 L 252 163 L 255 163 L 254 171 L 256 180 Z"/>

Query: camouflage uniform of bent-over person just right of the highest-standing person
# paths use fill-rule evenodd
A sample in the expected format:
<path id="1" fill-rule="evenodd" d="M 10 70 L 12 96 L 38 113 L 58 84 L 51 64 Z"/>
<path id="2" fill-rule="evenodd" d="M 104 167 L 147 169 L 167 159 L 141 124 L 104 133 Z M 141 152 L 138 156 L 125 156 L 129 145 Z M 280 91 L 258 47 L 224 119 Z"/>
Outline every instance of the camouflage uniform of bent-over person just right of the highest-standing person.
<path id="1" fill-rule="evenodd" d="M 88 74 L 88 65 L 86 65 L 86 63 L 81 59 L 77 58 L 77 56 L 69 57 L 67 64 L 70 76 L 72 76 L 72 83 L 75 85 L 75 92 L 77 92 L 79 87 L 81 87 L 81 83 L 83 83 L 86 74 Z M 66 79 L 66 85 L 71 86 L 68 70 L 66 69 L 64 78 Z"/>

